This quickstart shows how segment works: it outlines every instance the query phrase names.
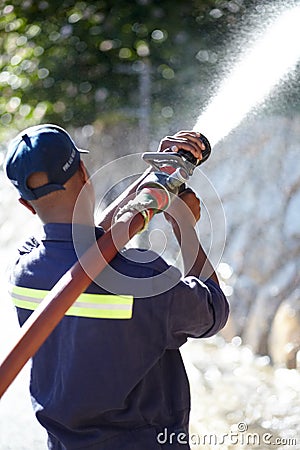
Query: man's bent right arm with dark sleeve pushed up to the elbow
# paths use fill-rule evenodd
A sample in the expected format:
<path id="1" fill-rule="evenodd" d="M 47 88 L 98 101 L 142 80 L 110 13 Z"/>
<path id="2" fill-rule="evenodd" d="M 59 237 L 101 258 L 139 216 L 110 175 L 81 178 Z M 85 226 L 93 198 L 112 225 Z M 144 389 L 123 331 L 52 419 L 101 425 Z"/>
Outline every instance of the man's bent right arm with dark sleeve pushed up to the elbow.
<path id="1" fill-rule="evenodd" d="M 191 189 L 174 199 L 165 213 L 181 246 L 185 276 L 173 292 L 168 326 L 168 348 L 179 348 L 188 337 L 204 338 L 226 324 L 229 304 L 197 233 L 200 202 Z"/>

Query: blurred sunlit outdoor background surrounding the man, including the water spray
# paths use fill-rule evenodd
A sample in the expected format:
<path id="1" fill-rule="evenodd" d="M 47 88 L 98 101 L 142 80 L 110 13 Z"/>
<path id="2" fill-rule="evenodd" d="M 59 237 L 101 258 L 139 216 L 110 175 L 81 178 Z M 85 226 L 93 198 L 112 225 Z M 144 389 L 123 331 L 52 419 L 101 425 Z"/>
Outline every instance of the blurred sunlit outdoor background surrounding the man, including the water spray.
<path id="1" fill-rule="evenodd" d="M 105 166 L 96 189 L 110 202 L 143 170 L 124 156 L 156 150 L 179 129 L 213 144 L 191 186 L 231 316 L 218 336 L 182 351 L 195 449 L 268 448 L 266 434 L 272 448 L 300 446 L 299 23 L 296 0 L 0 2 L 1 163 L 18 130 L 57 123 L 90 148 L 91 172 Z M 5 270 L 39 226 L 2 170 L 0 181 L 4 356 L 18 330 Z M 134 244 L 170 262 L 178 253 L 159 216 Z M 1 450 L 46 448 L 28 371 L 1 400 Z"/>

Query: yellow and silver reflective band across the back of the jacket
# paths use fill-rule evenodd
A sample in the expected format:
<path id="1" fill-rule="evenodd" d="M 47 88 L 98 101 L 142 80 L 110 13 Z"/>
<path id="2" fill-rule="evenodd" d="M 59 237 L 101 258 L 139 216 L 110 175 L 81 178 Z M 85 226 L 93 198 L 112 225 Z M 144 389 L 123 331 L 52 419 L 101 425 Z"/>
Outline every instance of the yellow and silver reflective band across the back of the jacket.
<path id="1" fill-rule="evenodd" d="M 34 310 L 50 291 L 11 286 L 10 295 L 15 306 Z M 68 309 L 66 316 L 95 319 L 131 319 L 132 295 L 81 294 Z"/>

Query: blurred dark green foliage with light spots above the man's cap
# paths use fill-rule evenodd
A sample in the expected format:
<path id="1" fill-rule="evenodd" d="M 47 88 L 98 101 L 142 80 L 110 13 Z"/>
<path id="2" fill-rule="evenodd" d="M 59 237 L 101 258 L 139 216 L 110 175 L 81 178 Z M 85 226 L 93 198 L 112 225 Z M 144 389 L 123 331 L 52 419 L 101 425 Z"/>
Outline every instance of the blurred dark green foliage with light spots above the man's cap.
<path id="1" fill-rule="evenodd" d="M 222 44 L 244 4 L 0 2 L 2 136 L 7 128 L 42 121 L 63 126 L 120 118 L 136 121 L 145 100 L 151 101 L 151 117 L 157 123 L 168 121 L 176 102 L 193 95 L 195 81 L 202 86 L 195 107 L 205 103 Z M 150 91 L 144 87 L 148 99 L 141 98 L 145 71 L 151 80 Z"/>

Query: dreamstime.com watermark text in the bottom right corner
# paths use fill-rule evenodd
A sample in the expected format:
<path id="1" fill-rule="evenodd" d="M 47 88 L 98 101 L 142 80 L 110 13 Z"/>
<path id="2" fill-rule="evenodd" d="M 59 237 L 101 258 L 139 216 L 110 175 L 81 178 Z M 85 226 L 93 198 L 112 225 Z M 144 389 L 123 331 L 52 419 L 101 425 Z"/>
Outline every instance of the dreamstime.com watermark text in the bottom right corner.
<path id="1" fill-rule="evenodd" d="M 157 435 L 157 442 L 163 444 L 181 444 L 192 446 L 210 445 L 218 447 L 220 445 L 239 445 L 243 447 L 259 447 L 259 446 L 297 446 L 296 438 L 284 438 L 274 436 L 274 434 L 266 433 L 250 433 L 248 432 L 248 425 L 240 422 L 237 425 L 236 431 L 230 431 L 222 435 L 217 434 L 197 434 L 190 433 L 187 435 L 184 432 L 171 432 L 165 428 Z"/>

